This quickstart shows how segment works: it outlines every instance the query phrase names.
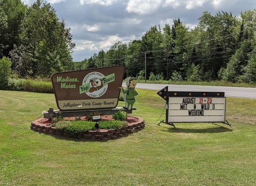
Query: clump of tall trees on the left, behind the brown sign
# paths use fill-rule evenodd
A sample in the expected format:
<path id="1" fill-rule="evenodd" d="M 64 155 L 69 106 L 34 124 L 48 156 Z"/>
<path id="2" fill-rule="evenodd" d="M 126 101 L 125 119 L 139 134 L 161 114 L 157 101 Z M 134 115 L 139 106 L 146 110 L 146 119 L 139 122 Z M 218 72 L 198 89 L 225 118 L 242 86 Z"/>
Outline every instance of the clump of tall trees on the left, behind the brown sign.
<path id="1" fill-rule="evenodd" d="M 21 0 L 0 0 L 0 59 L 11 61 L 12 74 L 50 77 L 74 69 L 70 28 L 45 1 L 25 5 Z"/>

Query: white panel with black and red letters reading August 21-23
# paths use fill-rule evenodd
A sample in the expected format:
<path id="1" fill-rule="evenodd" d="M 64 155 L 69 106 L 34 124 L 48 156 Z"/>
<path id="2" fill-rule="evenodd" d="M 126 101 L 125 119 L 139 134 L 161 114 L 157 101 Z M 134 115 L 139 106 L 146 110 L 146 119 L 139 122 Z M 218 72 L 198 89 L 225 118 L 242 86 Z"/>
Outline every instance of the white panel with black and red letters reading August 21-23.
<path id="1" fill-rule="evenodd" d="M 225 122 L 226 98 L 169 97 L 168 122 Z"/>

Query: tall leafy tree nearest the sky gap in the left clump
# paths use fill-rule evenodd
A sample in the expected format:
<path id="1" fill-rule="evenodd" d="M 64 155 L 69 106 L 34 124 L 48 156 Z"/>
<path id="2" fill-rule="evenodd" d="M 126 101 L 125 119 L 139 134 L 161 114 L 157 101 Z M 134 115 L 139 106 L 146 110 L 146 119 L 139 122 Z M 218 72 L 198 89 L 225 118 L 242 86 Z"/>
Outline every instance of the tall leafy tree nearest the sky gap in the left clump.
<path id="1" fill-rule="evenodd" d="M 22 26 L 22 41 L 33 55 L 31 69 L 35 75 L 49 77 L 55 71 L 74 69 L 71 53 L 75 44 L 70 28 L 63 19 L 59 21 L 50 3 L 37 0 L 28 7 Z"/>

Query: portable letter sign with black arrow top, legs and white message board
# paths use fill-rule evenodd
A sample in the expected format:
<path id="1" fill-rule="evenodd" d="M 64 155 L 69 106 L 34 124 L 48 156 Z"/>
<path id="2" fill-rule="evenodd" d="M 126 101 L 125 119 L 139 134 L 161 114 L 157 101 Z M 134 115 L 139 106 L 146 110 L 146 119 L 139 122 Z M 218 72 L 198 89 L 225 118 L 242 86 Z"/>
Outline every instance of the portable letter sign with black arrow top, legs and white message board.
<path id="1" fill-rule="evenodd" d="M 168 86 L 157 94 L 166 100 L 166 120 L 174 123 L 223 123 L 226 120 L 225 92 L 168 91 Z M 174 126 L 175 127 L 175 126 Z"/>

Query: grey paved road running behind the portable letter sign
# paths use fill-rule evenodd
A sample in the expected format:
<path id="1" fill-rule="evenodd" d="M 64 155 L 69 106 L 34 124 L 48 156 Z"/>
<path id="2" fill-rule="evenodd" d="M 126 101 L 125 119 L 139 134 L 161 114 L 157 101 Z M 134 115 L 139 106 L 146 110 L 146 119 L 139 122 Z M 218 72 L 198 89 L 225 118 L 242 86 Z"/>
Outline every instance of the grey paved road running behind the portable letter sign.
<path id="1" fill-rule="evenodd" d="M 123 83 L 125 87 L 125 83 Z M 228 87 L 228 86 L 198 86 L 198 85 L 166 85 L 138 83 L 137 88 L 159 91 L 168 86 L 169 91 L 191 91 L 191 92 L 225 92 L 225 96 L 234 98 L 246 98 L 256 100 L 256 88 Z"/>

